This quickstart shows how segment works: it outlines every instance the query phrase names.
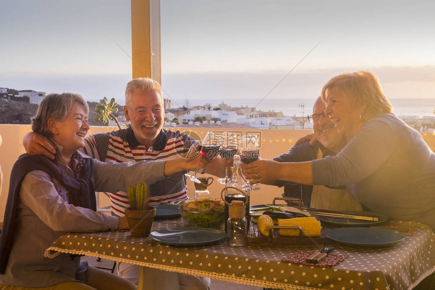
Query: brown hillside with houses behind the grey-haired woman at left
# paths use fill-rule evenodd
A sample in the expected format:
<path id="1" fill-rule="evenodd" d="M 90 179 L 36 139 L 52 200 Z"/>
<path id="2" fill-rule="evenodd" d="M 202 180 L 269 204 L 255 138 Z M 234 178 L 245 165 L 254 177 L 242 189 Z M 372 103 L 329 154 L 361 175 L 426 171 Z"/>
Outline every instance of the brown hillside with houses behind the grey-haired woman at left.
<path id="1" fill-rule="evenodd" d="M 103 126 L 94 120 L 96 102 L 88 102 L 89 106 L 89 125 Z M 30 124 L 30 118 L 36 114 L 38 105 L 25 102 L 0 99 L 0 124 Z M 122 106 L 118 106 L 118 111 L 122 112 Z"/>

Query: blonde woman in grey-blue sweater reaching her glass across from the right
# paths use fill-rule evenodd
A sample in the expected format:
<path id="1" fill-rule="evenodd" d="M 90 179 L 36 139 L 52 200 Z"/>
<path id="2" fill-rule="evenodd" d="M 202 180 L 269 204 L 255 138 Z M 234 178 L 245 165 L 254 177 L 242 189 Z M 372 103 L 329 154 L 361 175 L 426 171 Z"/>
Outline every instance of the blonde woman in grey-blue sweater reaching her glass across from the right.
<path id="1" fill-rule="evenodd" d="M 308 162 L 259 160 L 244 166 L 256 182 L 272 180 L 338 186 L 390 219 L 418 221 L 435 231 L 435 154 L 421 135 L 393 114 L 378 78 L 344 73 L 322 89 L 324 114 L 347 145 Z"/>

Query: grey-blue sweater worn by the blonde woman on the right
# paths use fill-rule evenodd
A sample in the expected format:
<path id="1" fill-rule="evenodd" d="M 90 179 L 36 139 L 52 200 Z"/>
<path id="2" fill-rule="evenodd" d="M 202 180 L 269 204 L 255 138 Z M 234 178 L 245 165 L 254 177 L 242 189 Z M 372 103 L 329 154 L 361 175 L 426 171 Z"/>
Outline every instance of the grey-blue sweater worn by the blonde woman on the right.
<path id="1" fill-rule="evenodd" d="M 373 212 L 435 230 L 435 153 L 394 114 L 368 120 L 336 156 L 313 160 L 313 182 L 346 184 Z"/>

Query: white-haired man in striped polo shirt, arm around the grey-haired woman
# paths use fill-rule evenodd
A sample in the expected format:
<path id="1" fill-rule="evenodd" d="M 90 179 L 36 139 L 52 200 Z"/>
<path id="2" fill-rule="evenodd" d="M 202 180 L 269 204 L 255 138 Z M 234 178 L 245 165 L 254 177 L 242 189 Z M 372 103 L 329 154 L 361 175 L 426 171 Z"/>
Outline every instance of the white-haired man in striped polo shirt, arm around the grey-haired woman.
<path id="1" fill-rule="evenodd" d="M 125 89 L 125 117 L 130 121 L 128 129 L 110 133 L 93 134 L 85 138 L 83 152 L 105 162 L 138 162 L 164 160 L 179 157 L 188 152 L 195 142 L 191 137 L 164 130 L 164 107 L 160 85 L 150 78 L 129 81 Z M 29 154 L 44 154 L 52 158 L 56 150 L 48 140 L 29 133 L 24 138 Z M 209 163 L 205 172 L 223 176 L 222 161 Z M 170 203 L 187 199 L 185 172 L 168 176 L 150 184 L 150 203 Z M 123 216 L 129 206 L 125 192 L 109 193 L 112 215 Z M 138 283 L 138 267 L 128 263 L 117 264 L 118 275 Z M 149 289 L 209 289 L 210 279 L 145 268 L 144 276 Z M 164 284 L 163 284 L 164 283 Z"/>

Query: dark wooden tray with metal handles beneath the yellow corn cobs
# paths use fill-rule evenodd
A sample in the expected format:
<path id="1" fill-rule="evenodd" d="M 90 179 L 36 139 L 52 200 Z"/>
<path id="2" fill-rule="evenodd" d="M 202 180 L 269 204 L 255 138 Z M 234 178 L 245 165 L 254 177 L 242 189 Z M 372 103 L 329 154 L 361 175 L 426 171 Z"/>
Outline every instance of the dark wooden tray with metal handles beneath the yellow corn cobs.
<path id="1" fill-rule="evenodd" d="M 320 232 L 320 236 L 317 237 L 286 237 L 279 234 L 279 230 L 275 230 L 272 237 L 272 242 L 269 241 L 269 237 L 263 235 L 256 223 L 250 223 L 248 230 L 248 245 L 303 245 L 303 246 L 323 246 L 325 240 L 324 228 Z"/>

